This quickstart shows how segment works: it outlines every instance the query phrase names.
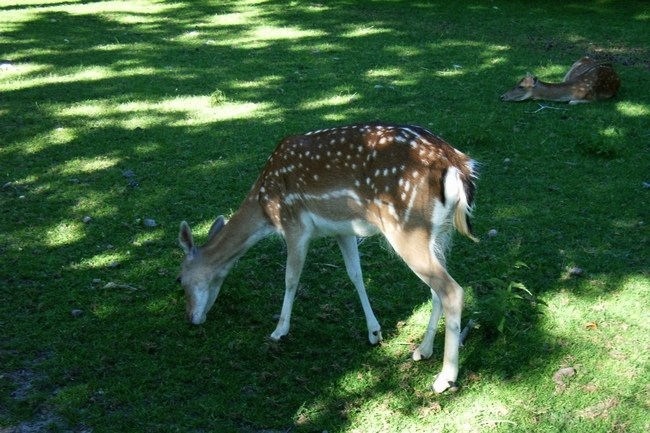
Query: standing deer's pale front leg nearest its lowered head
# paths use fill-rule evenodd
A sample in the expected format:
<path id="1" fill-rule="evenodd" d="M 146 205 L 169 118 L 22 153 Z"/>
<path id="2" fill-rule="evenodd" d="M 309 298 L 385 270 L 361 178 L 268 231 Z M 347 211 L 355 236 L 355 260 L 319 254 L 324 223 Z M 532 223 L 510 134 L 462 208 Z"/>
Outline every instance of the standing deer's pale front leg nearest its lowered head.
<path id="1" fill-rule="evenodd" d="M 296 298 L 300 274 L 305 265 L 307 244 L 309 242 L 309 237 L 306 235 L 300 236 L 298 239 L 294 239 L 293 237 L 286 237 L 285 239 L 287 241 L 287 269 L 285 273 L 284 300 L 282 301 L 282 311 L 280 312 L 278 326 L 271 334 L 271 339 L 274 341 L 280 340 L 289 333 L 293 301 Z"/>

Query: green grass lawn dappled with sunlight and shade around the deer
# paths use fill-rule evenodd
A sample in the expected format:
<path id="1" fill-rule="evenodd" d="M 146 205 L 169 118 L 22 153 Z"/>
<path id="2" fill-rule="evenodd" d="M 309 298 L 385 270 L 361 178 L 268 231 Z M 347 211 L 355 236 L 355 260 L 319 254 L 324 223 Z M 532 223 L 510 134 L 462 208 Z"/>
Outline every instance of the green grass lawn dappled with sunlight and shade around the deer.
<path id="1" fill-rule="evenodd" d="M 647 431 L 649 24 L 642 1 L 0 1 L 0 430 Z M 585 54 L 615 100 L 499 101 Z M 379 347 L 331 240 L 281 343 L 276 238 L 184 322 L 179 222 L 205 240 L 281 137 L 376 119 L 482 163 L 456 394 L 430 391 L 442 338 L 410 361 L 429 295 L 379 239 Z"/>

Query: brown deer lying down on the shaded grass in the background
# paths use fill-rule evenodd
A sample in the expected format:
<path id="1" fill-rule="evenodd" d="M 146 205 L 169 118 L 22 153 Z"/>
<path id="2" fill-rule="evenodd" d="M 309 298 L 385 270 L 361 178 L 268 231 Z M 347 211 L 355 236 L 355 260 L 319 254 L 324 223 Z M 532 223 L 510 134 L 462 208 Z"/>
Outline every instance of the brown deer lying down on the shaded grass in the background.
<path id="1" fill-rule="evenodd" d="M 620 85 L 611 64 L 583 57 L 571 66 L 561 83 L 545 83 L 529 73 L 512 90 L 501 95 L 501 100 L 543 99 L 580 104 L 612 98 Z"/>

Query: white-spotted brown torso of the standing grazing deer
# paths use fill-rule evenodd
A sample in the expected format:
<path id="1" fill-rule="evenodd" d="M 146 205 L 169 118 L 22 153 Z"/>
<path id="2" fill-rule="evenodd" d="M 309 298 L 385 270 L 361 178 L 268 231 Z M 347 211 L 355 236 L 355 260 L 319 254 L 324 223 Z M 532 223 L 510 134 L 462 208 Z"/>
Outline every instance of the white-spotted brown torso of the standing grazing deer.
<path id="1" fill-rule="evenodd" d="M 418 126 L 361 124 L 283 139 L 254 194 L 281 233 L 311 224 L 322 234 L 367 235 L 386 226 L 430 226 L 435 203 L 448 198 L 449 173 L 471 207 L 468 156 Z M 471 236 L 469 218 L 456 225 Z"/>

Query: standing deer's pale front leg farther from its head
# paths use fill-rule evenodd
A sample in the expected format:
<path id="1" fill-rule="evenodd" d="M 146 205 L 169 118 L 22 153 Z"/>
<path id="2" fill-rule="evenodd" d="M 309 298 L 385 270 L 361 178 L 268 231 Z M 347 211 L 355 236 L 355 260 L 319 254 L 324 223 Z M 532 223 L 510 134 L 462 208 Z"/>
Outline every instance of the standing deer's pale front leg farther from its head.
<path id="1" fill-rule="evenodd" d="M 372 311 L 368 294 L 366 293 L 366 287 L 363 284 L 357 239 L 354 236 L 338 236 L 336 241 L 341 249 L 348 277 L 350 277 L 354 287 L 356 287 L 359 299 L 361 300 L 363 313 L 366 316 L 366 325 L 368 326 L 368 341 L 370 341 L 370 344 L 377 344 L 382 340 L 381 326 Z"/>

